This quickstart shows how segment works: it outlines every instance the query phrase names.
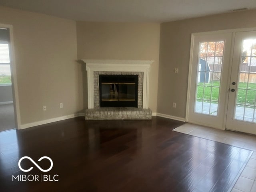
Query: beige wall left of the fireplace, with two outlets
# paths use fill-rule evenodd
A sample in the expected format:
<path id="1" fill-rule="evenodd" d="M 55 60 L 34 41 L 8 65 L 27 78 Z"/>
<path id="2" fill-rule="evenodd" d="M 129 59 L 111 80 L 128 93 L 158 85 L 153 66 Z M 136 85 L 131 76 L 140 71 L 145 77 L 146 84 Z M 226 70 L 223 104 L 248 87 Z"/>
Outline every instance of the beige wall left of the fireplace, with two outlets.
<path id="1" fill-rule="evenodd" d="M 21 124 L 82 110 L 76 22 L 0 6 L 0 24 L 13 26 Z"/>

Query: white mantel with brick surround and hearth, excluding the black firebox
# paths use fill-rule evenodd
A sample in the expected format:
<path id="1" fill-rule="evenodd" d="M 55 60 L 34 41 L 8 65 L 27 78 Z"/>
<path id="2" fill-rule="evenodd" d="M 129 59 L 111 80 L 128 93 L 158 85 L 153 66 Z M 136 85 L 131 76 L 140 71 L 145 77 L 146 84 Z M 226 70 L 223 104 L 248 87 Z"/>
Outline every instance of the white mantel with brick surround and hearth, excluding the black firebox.
<path id="1" fill-rule="evenodd" d="M 148 60 L 83 60 L 86 63 L 88 83 L 88 109 L 86 120 L 151 119 L 148 108 L 150 65 Z M 138 75 L 138 108 L 106 107 L 99 104 L 99 75 Z"/>

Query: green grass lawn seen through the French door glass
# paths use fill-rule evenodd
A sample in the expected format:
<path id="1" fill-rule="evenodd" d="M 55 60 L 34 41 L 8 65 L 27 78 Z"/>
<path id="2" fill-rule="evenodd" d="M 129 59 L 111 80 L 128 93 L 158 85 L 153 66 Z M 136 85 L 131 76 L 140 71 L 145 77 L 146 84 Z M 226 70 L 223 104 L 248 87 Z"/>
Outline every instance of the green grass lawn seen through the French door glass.
<path id="1" fill-rule="evenodd" d="M 213 86 L 213 87 L 210 87 Z M 204 99 L 210 100 L 211 98 L 211 89 L 212 89 L 212 101 L 218 101 L 219 98 L 219 86 L 220 81 L 214 81 L 212 83 L 206 83 L 204 86 L 204 83 L 198 83 L 197 86 L 197 99 L 203 99 L 203 93 L 204 93 Z M 245 97 L 246 97 L 246 87 L 247 83 L 239 83 L 238 84 L 238 97 L 237 97 L 237 103 L 238 104 L 245 104 Z M 246 98 L 246 104 L 247 105 L 253 105 L 255 104 L 256 99 L 256 83 L 248 83 L 248 90 L 247 91 L 247 98 Z"/>

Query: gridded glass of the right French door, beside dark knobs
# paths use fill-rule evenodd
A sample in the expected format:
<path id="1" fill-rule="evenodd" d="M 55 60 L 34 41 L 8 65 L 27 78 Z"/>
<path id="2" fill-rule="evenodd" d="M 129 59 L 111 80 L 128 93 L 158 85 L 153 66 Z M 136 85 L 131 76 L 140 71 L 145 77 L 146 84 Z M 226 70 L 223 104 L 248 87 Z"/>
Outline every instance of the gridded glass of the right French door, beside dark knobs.
<path id="1" fill-rule="evenodd" d="M 243 41 L 234 119 L 256 123 L 256 39 Z"/>

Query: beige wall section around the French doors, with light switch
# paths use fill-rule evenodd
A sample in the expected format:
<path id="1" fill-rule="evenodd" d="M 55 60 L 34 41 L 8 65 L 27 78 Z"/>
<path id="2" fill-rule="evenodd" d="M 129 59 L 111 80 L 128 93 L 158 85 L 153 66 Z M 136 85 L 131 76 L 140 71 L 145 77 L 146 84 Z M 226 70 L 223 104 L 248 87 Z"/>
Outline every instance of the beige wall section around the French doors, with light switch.
<path id="1" fill-rule="evenodd" d="M 192 33 L 256 27 L 255 18 L 256 10 L 250 10 L 162 23 L 157 112 L 185 118 Z"/>

